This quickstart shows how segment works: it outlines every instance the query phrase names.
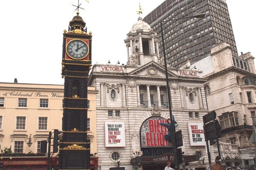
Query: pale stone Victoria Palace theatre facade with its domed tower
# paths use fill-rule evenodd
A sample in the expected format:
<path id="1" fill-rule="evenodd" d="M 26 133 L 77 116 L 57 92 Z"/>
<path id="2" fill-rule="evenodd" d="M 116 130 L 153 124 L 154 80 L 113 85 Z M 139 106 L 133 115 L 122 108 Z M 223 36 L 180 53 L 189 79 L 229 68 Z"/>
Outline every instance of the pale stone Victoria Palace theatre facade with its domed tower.
<path id="1" fill-rule="evenodd" d="M 88 81 L 98 91 L 98 169 L 163 170 L 167 161 L 174 167 L 172 145 L 164 139 L 168 131 L 160 125 L 172 107 L 176 131 L 182 130 L 180 169 L 206 170 L 202 117 L 208 110 L 202 72 L 188 65 L 168 67 L 169 106 L 157 34 L 139 17 L 127 36 L 127 64 L 95 64 Z"/>

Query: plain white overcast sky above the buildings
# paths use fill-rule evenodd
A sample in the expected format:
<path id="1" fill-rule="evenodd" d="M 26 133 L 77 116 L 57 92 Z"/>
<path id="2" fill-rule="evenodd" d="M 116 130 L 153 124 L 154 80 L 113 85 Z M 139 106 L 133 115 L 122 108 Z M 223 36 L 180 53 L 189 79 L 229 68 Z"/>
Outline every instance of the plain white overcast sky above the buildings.
<path id="1" fill-rule="evenodd" d="M 124 39 L 137 22 L 164 0 L 80 0 L 80 16 L 92 31 L 92 61 L 126 64 Z M 63 84 L 63 30 L 76 15 L 77 0 L 0 0 L 0 82 Z M 227 0 L 239 54 L 256 57 L 256 0 Z"/>

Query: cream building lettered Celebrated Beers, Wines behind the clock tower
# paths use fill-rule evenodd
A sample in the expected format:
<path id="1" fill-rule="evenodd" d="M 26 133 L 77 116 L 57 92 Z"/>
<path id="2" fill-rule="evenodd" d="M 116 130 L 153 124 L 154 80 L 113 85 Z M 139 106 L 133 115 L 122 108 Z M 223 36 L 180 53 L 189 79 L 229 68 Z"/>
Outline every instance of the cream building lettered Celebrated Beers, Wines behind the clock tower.
<path id="1" fill-rule="evenodd" d="M 97 153 L 96 93 L 88 87 L 91 154 Z M 0 150 L 38 153 L 49 131 L 62 128 L 63 85 L 0 83 Z M 32 146 L 28 147 L 31 134 Z M 52 151 L 52 149 L 51 149 Z"/>

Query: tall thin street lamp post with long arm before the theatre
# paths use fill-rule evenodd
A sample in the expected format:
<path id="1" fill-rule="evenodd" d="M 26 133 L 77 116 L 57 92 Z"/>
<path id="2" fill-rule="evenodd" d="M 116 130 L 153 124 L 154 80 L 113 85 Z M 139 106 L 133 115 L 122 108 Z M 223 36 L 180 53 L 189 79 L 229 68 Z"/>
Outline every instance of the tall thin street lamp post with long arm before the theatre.
<path id="1" fill-rule="evenodd" d="M 161 36 L 162 36 L 162 43 L 163 43 L 163 59 L 164 59 L 164 66 L 165 66 L 165 74 L 166 74 L 166 86 L 167 86 L 167 96 L 168 96 L 168 102 L 169 102 L 169 112 L 170 112 L 170 119 L 171 119 L 171 133 L 172 133 L 172 150 L 174 153 L 174 162 L 175 162 L 175 170 L 179 169 L 178 161 L 177 161 L 177 147 L 175 143 L 175 130 L 174 130 L 174 122 L 172 119 L 172 102 L 171 102 L 171 93 L 170 93 L 170 86 L 169 86 L 169 78 L 168 78 L 168 70 L 167 70 L 167 62 L 166 62 L 166 53 L 165 53 L 165 46 L 164 46 L 164 39 L 163 39 L 163 23 L 168 21 L 175 21 L 175 20 L 182 20 L 185 18 L 204 18 L 205 14 L 197 14 L 192 17 L 183 17 L 183 18 L 177 18 L 173 20 L 165 20 L 161 21 Z"/>

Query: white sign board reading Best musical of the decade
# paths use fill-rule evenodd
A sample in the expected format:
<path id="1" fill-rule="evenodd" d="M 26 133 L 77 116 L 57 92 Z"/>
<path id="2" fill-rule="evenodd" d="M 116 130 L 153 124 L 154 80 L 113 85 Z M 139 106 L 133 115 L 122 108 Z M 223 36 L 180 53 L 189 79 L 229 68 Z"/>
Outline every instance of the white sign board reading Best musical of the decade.
<path id="1" fill-rule="evenodd" d="M 204 146 L 204 123 L 188 123 L 190 146 Z"/>

